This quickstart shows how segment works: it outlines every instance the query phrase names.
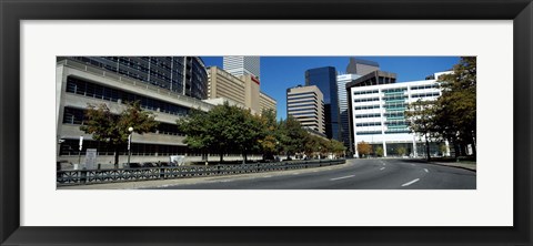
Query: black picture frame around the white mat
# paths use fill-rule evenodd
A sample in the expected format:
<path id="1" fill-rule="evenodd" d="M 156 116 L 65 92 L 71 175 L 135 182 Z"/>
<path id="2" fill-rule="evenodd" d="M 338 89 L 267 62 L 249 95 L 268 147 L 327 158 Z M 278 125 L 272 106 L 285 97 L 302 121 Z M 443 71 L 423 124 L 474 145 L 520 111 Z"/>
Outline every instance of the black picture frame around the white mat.
<path id="1" fill-rule="evenodd" d="M 531 0 L 0 0 L 0 2 L 1 245 L 532 245 Z M 514 20 L 514 226 L 21 227 L 19 23 L 21 20 L 86 19 Z"/>

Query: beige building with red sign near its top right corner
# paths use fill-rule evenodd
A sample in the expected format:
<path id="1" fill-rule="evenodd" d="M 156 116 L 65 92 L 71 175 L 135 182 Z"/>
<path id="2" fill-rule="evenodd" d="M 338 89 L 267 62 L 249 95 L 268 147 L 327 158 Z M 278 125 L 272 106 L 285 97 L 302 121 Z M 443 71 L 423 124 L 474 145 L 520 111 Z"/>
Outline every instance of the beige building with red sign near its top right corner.
<path id="1" fill-rule="evenodd" d="M 208 73 L 210 102 L 221 103 L 223 101 L 212 100 L 224 99 L 243 109 L 250 109 L 252 113 L 260 114 L 263 110 L 275 112 L 275 100 L 260 91 L 260 82 L 257 78 L 252 75 L 235 76 L 217 66 L 209 68 Z"/>

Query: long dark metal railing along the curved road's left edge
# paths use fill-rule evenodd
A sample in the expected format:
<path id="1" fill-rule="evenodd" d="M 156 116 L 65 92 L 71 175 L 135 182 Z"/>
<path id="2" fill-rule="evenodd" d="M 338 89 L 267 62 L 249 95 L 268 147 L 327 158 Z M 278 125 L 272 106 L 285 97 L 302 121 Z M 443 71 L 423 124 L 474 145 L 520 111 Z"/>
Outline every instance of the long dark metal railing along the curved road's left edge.
<path id="1" fill-rule="evenodd" d="M 271 171 L 313 168 L 344 164 L 345 160 L 301 161 L 257 164 L 220 164 L 213 166 L 162 166 L 118 170 L 57 171 L 57 185 L 102 184 L 114 182 L 171 180 L 201 176 L 220 176 Z"/>

